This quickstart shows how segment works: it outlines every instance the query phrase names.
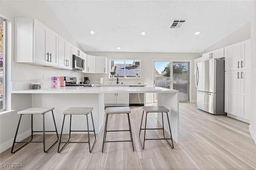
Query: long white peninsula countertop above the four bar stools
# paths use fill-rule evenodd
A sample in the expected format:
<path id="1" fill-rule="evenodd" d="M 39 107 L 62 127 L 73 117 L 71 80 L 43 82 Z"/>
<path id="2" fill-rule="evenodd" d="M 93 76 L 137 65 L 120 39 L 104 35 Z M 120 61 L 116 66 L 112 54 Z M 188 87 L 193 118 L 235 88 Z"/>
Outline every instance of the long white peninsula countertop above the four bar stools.
<path id="1" fill-rule="evenodd" d="M 162 87 L 60 87 L 60 89 L 14 90 L 12 93 L 68 94 L 68 93 L 178 93 Z"/>

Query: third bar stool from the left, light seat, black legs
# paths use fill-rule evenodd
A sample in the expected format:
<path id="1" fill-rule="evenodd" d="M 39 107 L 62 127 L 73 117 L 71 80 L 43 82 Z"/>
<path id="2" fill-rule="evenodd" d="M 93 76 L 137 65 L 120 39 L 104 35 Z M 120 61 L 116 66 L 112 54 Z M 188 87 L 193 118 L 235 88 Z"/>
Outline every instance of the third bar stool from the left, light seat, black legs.
<path id="1" fill-rule="evenodd" d="M 128 115 L 128 123 L 129 123 L 129 130 L 107 130 L 108 126 L 108 115 L 110 114 L 124 114 L 126 113 Z M 132 129 L 131 129 L 131 123 L 130 123 L 130 116 L 131 110 L 129 107 L 107 107 L 105 109 L 106 114 L 106 122 L 105 122 L 105 129 L 104 129 L 104 137 L 103 137 L 103 144 L 102 144 L 102 152 L 104 149 L 104 143 L 105 142 L 132 142 L 132 149 L 134 151 L 133 146 L 133 139 L 132 139 Z M 130 132 L 130 138 L 131 140 L 115 140 L 115 141 L 106 141 L 106 134 L 107 132 L 120 132 L 120 131 L 129 131 Z"/>

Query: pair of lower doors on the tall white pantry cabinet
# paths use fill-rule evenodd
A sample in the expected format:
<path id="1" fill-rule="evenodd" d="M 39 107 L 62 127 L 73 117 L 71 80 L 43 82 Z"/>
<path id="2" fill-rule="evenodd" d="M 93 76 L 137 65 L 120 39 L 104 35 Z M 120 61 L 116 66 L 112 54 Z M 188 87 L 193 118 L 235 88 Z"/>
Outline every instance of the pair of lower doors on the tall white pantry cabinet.
<path id="1" fill-rule="evenodd" d="M 250 69 L 225 72 L 225 112 L 249 123 Z"/>

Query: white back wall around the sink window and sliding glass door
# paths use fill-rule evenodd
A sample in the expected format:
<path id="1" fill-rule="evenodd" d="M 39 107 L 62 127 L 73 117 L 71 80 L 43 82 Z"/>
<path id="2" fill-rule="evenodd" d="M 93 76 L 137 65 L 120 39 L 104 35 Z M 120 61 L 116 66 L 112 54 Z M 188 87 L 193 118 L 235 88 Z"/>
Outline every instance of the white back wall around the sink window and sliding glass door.
<path id="1" fill-rule="evenodd" d="M 109 70 L 109 59 L 140 59 L 141 60 L 141 79 L 120 79 L 120 83 L 142 83 L 147 84 L 147 87 L 153 86 L 153 74 L 154 65 L 153 60 L 169 60 L 169 61 L 190 61 L 190 79 L 191 79 L 191 96 L 192 102 L 196 101 L 196 86 L 194 83 L 194 59 L 200 57 L 199 53 L 128 53 L 128 52 L 85 52 L 89 55 L 95 56 L 107 56 L 108 57 L 108 70 Z M 104 83 L 108 83 L 108 75 L 106 74 L 85 74 L 86 77 L 92 81 L 92 83 L 99 83 L 100 77 L 104 78 Z M 152 78 L 150 80 L 150 77 Z M 145 78 L 148 78 L 146 81 Z M 153 102 L 153 95 L 147 94 L 147 103 Z"/>

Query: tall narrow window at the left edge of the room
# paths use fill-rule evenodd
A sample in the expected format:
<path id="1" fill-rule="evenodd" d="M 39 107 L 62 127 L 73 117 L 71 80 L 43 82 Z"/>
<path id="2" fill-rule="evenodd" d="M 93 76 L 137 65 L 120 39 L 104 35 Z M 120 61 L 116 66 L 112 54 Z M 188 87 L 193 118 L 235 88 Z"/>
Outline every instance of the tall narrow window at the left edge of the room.
<path id="1" fill-rule="evenodd" d="M 4 20 L 0 19 L 0 111 L 5 110 L 4 97 Z"/>

